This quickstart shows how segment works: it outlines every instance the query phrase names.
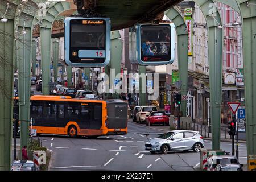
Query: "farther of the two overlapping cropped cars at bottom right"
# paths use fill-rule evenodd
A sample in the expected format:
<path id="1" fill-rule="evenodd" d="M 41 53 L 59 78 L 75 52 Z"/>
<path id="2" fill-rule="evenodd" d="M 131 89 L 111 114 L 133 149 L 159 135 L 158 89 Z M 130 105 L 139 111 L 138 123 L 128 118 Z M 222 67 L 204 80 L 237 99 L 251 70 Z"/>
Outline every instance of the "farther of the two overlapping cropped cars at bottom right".
<path id="1" fill-rule="evenodd" d="M 218 164 L 239 164 L 236 156 L 233 155 L 214 155 L 208 159 L 205 167 L 208 171 L 214 171 Z"/>

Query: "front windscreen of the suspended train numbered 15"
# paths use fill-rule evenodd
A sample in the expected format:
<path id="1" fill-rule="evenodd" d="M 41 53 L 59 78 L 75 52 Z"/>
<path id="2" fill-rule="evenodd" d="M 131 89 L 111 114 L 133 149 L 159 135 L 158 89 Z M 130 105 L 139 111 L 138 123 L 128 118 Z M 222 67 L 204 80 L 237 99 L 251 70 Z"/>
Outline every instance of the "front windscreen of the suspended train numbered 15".
<path id="1" fill-rule="evenodd" d="M 82 24 L 75 20 L 71 24 L 71 47 L 82 47 L 88 50 L 105 50 L 106 26 L 102 24 Z"/>

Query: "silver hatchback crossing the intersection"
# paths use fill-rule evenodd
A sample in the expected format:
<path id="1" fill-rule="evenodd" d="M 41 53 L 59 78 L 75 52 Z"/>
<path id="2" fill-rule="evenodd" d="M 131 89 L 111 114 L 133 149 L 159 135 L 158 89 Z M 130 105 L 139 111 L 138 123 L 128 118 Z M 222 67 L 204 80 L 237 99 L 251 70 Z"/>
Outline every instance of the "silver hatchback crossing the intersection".
<path id="1" fill-rule="evenodd" d="M 150 139 L 145 147 L 152 154 L 155 152 L 167 154 L 168 151 L 175 150 L 200 152 L 201 148 L 204 148 L 204 141 L 199 131 L 173 130 L 161 134 L 158 138 Z"/>

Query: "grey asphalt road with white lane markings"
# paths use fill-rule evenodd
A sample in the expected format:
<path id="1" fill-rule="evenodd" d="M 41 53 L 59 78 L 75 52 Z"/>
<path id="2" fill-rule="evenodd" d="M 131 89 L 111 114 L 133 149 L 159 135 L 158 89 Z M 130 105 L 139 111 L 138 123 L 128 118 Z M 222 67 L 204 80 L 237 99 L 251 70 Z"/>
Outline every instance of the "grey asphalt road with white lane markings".
<path id="1" fill-rule="evenodd" d="M 129 122 L 127 135 L 97 139 L 42 135 L 41 138 L 43 145 L 53 154 L 50 170 L 194 170 L 192 167 L 200 163 L 200 153 L 178 151 L 162 155 L 144 150 L 147 137 L 139 133 L 160 131 L 158 126 L 148 127 Z M 156 136 L 152 134 L 148 137 Z M 211 141 L 205 140 L 204 144 L 205 148 L 211 148 Z M 232 144 L 222 142 L 221 148 L 231 152 Z M 240 144 L 240 163 L 246 163 L 246 144 Z"/>

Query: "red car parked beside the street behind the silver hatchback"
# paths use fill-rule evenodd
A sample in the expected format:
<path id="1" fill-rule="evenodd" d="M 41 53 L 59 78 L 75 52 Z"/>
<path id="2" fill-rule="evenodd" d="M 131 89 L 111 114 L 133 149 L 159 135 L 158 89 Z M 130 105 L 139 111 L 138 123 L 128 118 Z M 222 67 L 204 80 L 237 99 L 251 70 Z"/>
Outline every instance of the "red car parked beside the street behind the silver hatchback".
<path id="1" fill-rule="evenodd" d="M 162 124 L 169 125 L 169 117 L 161 111 L 154 111 L 146 118 L 146 125 Z"/>

